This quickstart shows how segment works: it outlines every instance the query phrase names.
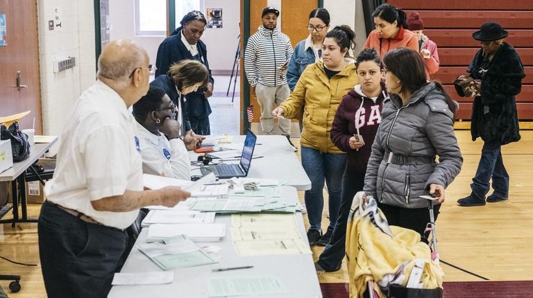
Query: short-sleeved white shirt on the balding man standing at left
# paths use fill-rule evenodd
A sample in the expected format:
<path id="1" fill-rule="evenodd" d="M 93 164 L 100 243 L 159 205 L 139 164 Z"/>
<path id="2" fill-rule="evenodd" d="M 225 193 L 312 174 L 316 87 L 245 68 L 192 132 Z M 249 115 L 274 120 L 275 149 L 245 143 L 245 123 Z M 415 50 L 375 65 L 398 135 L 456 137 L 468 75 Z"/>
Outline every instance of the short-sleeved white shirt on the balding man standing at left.
<path id="1" fill-rule="evenodd" d="M 83 92 L 66 123 L 46 197 L 103 225 L 125 229 L 138 210 L 96 211 L 91 201 L 143 190 L 137 121 L 119 94 L 97 80 Z"/>

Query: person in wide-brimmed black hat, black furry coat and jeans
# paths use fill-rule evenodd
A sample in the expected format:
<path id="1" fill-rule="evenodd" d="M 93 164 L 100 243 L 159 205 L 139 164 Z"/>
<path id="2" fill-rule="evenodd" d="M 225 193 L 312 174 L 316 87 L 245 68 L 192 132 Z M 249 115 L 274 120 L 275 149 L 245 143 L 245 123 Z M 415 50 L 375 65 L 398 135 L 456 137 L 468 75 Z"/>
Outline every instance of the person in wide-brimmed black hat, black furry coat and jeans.
<path id="1" fill-rule="evenodd" d="M 508 33 L 498 23 L 487 22 L 472 34 L 481 42 L 481 49 L 466 71 L 468 77 L 459 77 L 455 87 L 465 96 L 468 85 L 475 84 L 472 107 L 472 140 L 484 141 L 480 163 L 471 184 L 472 192 L 457 202 L 461 206 L 482 206 L 489 193 L 492 179 L 493 193 L 487 202 L 509 198 L 509 175 L 503 165 L 501 146 L 520 140 L 518 115 L 514 96 L 520 93 L 524 68 L 513 46 L 503 41 Z"/>

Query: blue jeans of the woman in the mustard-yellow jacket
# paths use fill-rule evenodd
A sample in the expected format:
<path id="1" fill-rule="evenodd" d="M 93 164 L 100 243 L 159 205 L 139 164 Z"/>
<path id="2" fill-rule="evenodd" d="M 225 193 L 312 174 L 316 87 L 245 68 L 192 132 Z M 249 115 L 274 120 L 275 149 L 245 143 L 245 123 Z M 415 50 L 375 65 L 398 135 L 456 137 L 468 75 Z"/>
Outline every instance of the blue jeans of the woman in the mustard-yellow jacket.
<path id="1" fill-rule="evenodd" d="M 303 169 L 311 180 L 311 189 L 305 191 L 305 207 L 310 229 L 321 230 L 324 180 L 328 186 L 330 202 L 330 226 L 328 228 L 333 229 L 341 206 L 342 174 L 346 164 L 346 155 L 323 153 L 302 146 L 301 157 Z"/>

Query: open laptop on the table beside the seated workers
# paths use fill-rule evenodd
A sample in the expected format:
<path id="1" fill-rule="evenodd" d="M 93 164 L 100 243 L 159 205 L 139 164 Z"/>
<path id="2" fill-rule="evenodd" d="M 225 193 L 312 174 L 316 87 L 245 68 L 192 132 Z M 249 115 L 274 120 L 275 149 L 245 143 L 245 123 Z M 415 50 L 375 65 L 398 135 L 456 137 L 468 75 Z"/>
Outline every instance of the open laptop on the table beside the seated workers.
<path id="1" fill-rule="evenodd" d="M 231 177 L 246 177 L 248 170 L 250 170 L 250 163 L 252 161 L 253 150 L 257 137 L 251 130 L 246 130 L 246 138 L 244 139 L 244 147 L 242 148 L 242 155 L 239 164 L 214 164 L 210 166 L 201 166 L 202 175 L 214 173 L 215 176 L 225 179 Z"/>

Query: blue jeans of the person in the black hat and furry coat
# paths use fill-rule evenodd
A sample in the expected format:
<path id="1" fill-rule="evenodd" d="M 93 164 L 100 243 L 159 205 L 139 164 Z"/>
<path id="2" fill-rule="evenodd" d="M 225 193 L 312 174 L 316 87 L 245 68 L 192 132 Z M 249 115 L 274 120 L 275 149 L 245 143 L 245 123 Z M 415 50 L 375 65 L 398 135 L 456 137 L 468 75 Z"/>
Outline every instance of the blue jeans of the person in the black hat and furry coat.
<path id="1" fill-rule="evenodd" d="M 491 189 L 490 180 L 492 178 L 492 188 L 494 193 L 501 198 L 509 196 L 509 174 L 503 165 L 501 145 L 497 143 L 484 143 L 481 150 L 480 164 L 472 179 L 472 193 L 481 200 Z"/>

